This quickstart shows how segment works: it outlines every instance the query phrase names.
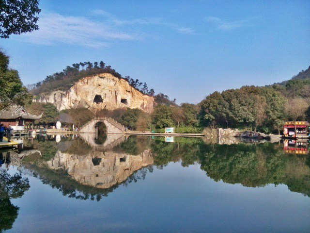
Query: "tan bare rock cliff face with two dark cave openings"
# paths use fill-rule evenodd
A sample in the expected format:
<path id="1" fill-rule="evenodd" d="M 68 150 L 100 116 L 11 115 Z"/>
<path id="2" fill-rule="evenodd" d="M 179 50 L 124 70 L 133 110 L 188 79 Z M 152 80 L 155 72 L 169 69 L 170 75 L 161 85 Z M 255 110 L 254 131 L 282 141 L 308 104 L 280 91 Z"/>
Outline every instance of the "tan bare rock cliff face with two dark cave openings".
<path id="1" fill-rule="evenodd" d="M 66 91 L 42 93 L 33 101 L 52 103 L 58 111 L 78 107 L 91 110 L 138 108 L 151 113 L 154 109 L 154 97 L 142 94 L 126 80 L 109 73 L 82 78 Z"/>

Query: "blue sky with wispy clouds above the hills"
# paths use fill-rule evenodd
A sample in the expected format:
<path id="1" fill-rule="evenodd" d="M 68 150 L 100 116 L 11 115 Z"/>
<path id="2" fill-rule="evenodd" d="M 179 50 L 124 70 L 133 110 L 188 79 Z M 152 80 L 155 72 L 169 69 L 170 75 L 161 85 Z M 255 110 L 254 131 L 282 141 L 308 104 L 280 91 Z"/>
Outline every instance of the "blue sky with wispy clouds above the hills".
<path id="1" fill-rule="evenodd" d="M 39 7 L 39 31 L 0 39 L 25 85 L 102 60 L 177 103 L 198 103 L 310 66 L 309 0 L 41 0 Z"/>

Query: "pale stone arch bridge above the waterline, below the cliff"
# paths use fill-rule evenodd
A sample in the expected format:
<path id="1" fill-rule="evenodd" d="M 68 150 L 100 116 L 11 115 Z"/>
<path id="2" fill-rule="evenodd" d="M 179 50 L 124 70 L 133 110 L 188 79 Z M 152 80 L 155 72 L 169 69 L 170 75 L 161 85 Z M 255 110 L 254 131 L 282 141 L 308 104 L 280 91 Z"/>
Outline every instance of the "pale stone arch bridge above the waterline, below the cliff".
<path id="1" fill-rule="evenodd" d="M 104 123 L 107 127 L 107 133 L 125 133 L 124 125 L 121 125 L 111 117 L 96 117 L 83 125 L 80 129 L 80 133 L 97 133 L 96 124 Z"/>

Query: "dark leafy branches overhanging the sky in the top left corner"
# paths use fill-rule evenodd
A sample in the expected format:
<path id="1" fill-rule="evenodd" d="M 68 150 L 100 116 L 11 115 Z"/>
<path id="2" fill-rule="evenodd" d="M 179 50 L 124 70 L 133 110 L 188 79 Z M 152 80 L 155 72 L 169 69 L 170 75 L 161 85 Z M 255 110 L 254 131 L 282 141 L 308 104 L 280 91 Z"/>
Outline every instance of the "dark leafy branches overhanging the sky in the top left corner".
<path id="1" fill-rule="evenodd" d="M 36 24 L 41 12 L 39 0 L 0 1 L 0 37 L 9 38 L 11 34 L 21 34 L 38 30 Z"/>

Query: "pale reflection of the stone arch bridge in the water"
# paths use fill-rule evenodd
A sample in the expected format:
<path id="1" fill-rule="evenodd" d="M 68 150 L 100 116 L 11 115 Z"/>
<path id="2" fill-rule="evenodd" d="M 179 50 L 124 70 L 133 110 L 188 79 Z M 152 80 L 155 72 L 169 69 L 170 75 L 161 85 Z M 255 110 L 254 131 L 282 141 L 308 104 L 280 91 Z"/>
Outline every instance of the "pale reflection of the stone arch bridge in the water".
<path id="1" fill-rule="evenodd" d="M 108 133 L 105 142 L 103 144 L 98 144 L 96 143 L 96 137 L 98 137 L 97 133 L 81 133 L 79 134 L 79 136 L 92 148 L 103 150 L 112 149 L 113 147 L 122 143 L 126 139 L 125 135 L 117 133 Z"/>

